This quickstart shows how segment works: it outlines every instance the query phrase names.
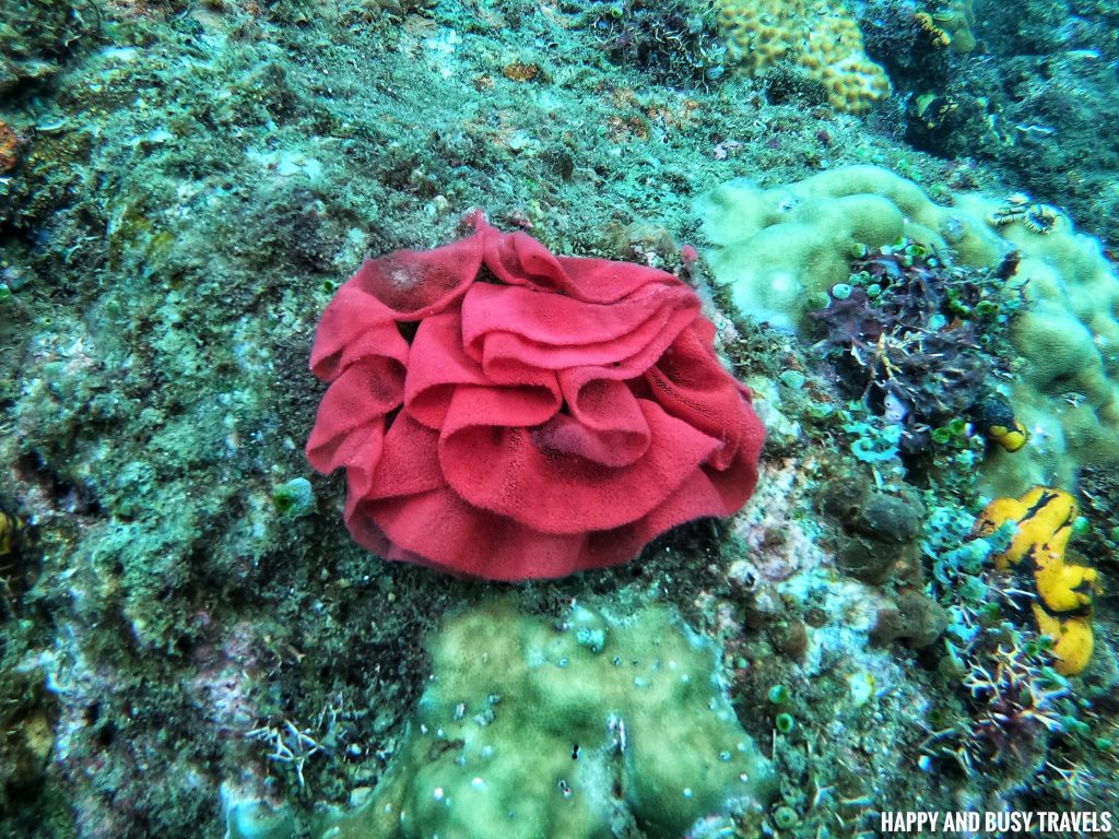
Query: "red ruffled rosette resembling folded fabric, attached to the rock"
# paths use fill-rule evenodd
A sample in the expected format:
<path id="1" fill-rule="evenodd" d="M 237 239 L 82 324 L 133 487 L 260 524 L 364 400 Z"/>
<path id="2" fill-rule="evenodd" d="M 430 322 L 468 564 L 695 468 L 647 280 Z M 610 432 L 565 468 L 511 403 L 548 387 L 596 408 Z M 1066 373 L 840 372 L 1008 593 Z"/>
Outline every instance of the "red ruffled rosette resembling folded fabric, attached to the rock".
<path id="1" fill-rule="evenodd" d="M 692 290 L 472 220 L 450 245 L 367 260 L 319 324 L 311 369 L 330 387 L 307 456 L 346 469 L 354 538 L 527 579 L 737 510 L 764 431 Z"/>

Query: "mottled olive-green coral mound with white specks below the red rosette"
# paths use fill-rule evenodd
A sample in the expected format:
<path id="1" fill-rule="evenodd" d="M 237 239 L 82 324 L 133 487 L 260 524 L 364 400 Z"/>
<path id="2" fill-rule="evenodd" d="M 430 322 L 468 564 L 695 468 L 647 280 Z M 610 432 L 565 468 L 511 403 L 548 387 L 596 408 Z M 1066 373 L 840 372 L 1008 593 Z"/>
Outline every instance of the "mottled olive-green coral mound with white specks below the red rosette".
<path id="1" fill-rule="evenodd" d="M 323 837 L 608 839 L 632 819 L 677 839 L 712 813 L 760 818 L 772 793 L 714 644 L 667 607 L 576 605 L 557 626 L 496 602 L 452 618 L 431 652 L 404 746 Z"/>

